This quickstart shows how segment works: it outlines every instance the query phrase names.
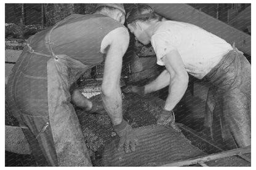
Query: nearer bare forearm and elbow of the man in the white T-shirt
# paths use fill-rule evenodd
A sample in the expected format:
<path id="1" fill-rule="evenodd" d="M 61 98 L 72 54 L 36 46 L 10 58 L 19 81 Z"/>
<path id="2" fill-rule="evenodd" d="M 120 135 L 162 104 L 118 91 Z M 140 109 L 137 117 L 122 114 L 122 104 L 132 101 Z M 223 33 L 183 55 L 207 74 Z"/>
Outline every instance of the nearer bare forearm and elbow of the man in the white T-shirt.
<path id="1" fill-rule="evenodd" d="M 182 99 L 188 87 L 188 73 L 180 54 L 176 50 L 172 50 L 163 56 L 162 61 L 164 61 L 166 69 L 170 73 L 169 95 L 164 109 L 172 110 Z"/>

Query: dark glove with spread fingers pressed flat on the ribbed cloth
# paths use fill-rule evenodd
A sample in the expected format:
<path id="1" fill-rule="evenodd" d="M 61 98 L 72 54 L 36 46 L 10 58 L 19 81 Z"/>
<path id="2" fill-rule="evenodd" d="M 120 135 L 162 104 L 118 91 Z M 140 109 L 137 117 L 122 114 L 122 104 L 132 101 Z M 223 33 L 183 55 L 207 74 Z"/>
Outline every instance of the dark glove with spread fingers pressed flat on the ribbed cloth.
<path id="1" fill-rule="evenodd" d="M 138 145 L 138 138 L 135 135 L 132 126 L 130 126 L 125 120 L 122 120 L 122 122 L 119 125 L 115 125 L 113 126 L 113 128 L 114 131 L 120 137 L 118 150 L 121 150 L 122 147 L 124 147 L 124 152 L 134 152 L 135 145 Z"/>

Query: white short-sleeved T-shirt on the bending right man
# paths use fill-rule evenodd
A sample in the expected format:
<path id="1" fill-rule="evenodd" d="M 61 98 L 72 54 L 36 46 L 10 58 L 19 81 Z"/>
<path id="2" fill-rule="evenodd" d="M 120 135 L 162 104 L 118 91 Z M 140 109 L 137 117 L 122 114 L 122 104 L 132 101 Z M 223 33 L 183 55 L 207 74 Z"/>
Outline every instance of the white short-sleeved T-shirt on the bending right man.
<path id="1" fill-rule="evenodd" d="M 180 54 L 186 71 L 202 79 L 222 56 L 233 48 L 225 40 L 198 26 L 178 21 L 162 21 L 153 31 L 151 45 L 164 66 L 162 57 L 171 50 Z"/>

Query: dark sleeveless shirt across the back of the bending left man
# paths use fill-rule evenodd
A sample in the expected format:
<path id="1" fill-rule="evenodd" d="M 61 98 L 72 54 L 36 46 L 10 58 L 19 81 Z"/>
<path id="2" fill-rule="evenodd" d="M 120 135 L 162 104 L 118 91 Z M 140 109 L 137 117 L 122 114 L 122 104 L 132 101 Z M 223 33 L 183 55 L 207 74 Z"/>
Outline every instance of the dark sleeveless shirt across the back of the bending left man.
<path id="1" fill-rule="evenodd" d="M 50 43 L 55 55 L 68 55 L 86 65 L 103 61 L 100 47 L 103 38 L 113 29 L 123 27 L 113 18 L 100 14 L 73 14 L 60 21 L 50 33 Z M 29 40 L 31 47 L 41 53 L 46 50 L 38 47 L 45 42 L 50 29 L 41 31 Z"/>

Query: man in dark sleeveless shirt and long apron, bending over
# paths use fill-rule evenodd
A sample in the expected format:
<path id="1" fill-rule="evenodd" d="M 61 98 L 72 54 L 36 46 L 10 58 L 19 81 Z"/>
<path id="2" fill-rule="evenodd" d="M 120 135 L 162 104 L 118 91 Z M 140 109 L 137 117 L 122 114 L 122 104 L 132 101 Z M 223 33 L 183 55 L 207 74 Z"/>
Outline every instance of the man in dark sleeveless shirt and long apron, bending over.
<path id="1" fill-rule="evenodd" d="M 123 5 L 100 4 L 95 14 L 70 15 L 28 39 L 6 95 L 39 166 L 92 166 L 70 87 L 104 60 L 103 106 L 120 137 L 119 147 L 135 150 L 137 138 L 122 120 L 119 87 L 122 56 L 129 44 L 124 20 Z M 84 104 L 89 111 L 97 107 L 74 92 L 74 104 Z"/>

